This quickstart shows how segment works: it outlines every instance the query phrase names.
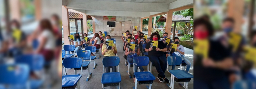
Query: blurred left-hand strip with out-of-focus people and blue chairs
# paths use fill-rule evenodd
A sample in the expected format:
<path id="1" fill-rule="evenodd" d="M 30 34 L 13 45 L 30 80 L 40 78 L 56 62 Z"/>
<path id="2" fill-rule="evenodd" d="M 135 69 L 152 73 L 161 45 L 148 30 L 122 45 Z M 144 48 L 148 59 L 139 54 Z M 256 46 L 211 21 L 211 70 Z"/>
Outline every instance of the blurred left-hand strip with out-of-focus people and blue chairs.
<path id="1" fill-rule="evenodd" d="M 61 88 L 61 0 L 0 0 L 0 89 Z"/>

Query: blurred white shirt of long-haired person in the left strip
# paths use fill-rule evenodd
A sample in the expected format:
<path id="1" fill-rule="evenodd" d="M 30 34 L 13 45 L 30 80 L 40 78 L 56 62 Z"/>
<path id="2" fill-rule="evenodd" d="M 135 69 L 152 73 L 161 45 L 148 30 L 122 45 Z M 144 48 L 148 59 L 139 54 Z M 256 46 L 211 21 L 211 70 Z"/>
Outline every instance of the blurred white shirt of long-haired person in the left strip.
<path id="1" fill-rule="evenodd" d="M 44 46 L 44 49 L 50 49 L 54 50 L 55 49 L 55 37 L 54 34 L 49 31 L 49 30 L 44 30 L 40 35 L 39 35 L 39 42 L 42 42 L 42 38 L 46 38 L 46 43 Z"/>

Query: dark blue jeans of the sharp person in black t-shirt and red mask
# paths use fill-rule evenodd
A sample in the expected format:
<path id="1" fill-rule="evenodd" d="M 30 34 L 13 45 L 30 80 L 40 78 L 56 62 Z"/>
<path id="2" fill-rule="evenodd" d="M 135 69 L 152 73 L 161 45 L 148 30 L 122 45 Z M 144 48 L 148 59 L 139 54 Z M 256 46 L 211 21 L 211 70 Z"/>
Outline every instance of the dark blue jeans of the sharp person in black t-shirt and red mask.
<path id="1" fill-rule="evenodd" d="M 165 70 L 167 69 L 167 61 L 166 56 L 163 54 L 162 56 L 153 56 L 148 55 L 149 60 L 152 62 L 152 64 L 155 64 L 155 68 L 158 72 L 158 76 L 165 78 Z"/>

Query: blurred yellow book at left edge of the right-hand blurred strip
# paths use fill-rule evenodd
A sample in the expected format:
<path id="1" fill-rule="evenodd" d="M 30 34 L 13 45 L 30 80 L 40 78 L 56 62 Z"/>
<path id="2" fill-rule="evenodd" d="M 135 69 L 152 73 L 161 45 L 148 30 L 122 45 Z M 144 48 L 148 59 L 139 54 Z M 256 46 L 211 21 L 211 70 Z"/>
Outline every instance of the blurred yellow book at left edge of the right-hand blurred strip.
<path id="1" fill-rule="evenodd" d="M 204 40 L 196 40 L 194 39 L 194 51 L 197 55 L 202 55 L 203 58 L 208 58 L 209 51 L 209 41 L 207 39 Z"/>

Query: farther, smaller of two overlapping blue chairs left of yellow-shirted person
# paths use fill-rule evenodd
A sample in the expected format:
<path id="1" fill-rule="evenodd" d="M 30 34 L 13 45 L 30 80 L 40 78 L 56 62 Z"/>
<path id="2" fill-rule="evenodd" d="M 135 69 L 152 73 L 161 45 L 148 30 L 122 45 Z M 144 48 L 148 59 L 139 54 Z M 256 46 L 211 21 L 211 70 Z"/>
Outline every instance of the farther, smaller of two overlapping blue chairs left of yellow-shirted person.
<path id="1" fill-rule="evenodd" d="M 95 63 L 96 61 L 94 60 L 97 57 L 96 47 L 95 46 L 87 46 L 87 47 L 85 47 L 85 50 L 90 50 L 91 52 L 95 52 L 95 54 L 96 54 L 95 56 L 90 56 L 90 57 L 83 58 L 83 60 L 90 60 L 90 61 L 93 60 L 94 67 L 92 69 L 95 69 L 95 67 L 97 66 L 97 63 Z"/>

